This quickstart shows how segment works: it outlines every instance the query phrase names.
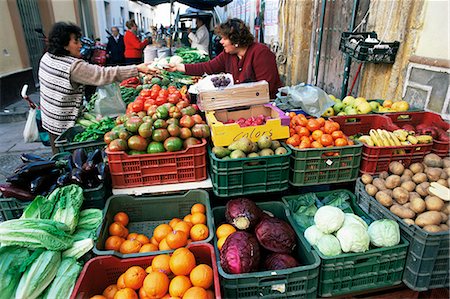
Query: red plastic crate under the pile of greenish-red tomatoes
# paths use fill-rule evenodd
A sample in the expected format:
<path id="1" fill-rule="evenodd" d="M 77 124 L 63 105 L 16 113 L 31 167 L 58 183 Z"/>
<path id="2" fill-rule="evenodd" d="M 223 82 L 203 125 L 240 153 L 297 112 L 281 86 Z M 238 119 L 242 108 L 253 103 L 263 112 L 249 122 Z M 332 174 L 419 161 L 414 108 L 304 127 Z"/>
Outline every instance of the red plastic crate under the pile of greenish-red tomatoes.
<path id="1" fill-rule="evenodd" d="M 108 154 L 112 186 L 131 188 L 202 181 L 206 174 L 206 139 L 178 152 L 128 155 Z"/>

